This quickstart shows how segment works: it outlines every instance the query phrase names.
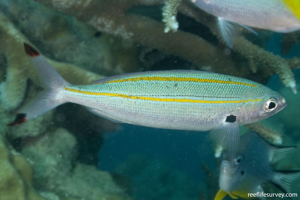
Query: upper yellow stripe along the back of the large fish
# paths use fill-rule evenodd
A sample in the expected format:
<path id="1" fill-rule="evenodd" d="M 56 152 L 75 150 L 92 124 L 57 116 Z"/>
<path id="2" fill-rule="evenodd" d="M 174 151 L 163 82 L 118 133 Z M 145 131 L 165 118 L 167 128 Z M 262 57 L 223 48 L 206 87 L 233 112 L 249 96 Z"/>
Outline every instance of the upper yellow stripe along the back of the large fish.
<path id="1" fill-rule="evenodd" d="M 237 81 L 227 81 L 227 80 L 217 80 L 217 79 L 206 79 L 206 78 L 194 78 L 194 77 L 134 77 L 134 78 L 125 78 L 125 79 L 119 79 L 119 80 L 109 80 L 105 83 L 122 83 L 122 82 L 136 82 L 140 80 L 146 80 L 146 81 L 190 81 L 190 82 L 198 82 L 198 83 L 221 83 L 221 84 L 235 84 L 235 85 L 244 85 L 244 86 L 250 86 L 250 87 L 257 87 L 260 85 L 256 84 L 250 84 L 250 83 L 243 83 L 243 82 L 237 82 Z M 101 84 L 101 83 L 99 83 Z"/>

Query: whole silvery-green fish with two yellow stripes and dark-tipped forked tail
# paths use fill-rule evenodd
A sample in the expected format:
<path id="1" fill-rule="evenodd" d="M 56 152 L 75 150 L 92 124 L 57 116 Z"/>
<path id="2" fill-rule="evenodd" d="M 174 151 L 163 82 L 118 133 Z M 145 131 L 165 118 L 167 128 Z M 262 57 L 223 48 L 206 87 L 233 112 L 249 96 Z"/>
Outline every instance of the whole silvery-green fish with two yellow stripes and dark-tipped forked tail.
<path id="1" fill-rule="evenodd" d="M 107 77 L 92 84 L 67 83 L 29 44 L 25 52 L 44 83 L 9 125 L 23 123 L 66 102 L 113 120 L 164 129 L 207 131 L 234 152 L 239 126 L 268 118 L 286 99 L 239 77 L 193 70 L 148 71 Z"/>

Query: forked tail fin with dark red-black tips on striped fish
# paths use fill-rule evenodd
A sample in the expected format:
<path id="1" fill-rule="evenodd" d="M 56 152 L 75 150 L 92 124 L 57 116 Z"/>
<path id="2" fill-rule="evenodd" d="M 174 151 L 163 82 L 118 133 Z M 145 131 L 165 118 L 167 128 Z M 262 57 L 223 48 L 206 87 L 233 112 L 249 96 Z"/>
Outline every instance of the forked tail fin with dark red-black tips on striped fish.
<path id="1" fill-rule="evenodd" d="M 38 72 L 44 90 L 22 107 L 16 114 L 16 119 L 7 126 L 26 122 L 65 103 L 64 96 L 60 91 L 63 87 L 70 85 L 30 44 L 24 43 L 24 49 Z"/>

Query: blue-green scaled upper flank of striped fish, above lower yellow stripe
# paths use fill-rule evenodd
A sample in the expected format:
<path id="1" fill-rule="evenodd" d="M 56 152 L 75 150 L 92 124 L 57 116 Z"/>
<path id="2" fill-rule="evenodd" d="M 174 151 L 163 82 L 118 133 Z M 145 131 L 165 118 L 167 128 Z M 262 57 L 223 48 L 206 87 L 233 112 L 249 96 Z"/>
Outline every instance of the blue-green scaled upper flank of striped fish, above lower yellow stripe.
<path id="1" fill-rule="evenodd" d="M 160 74 L 159 74 L 160 73 Z M 124 81 L 125 79 L 134 79 L 139 77 L 158 77 L 161 78 L 194 78 L 195 80 L 206 80 L 206 82 L 196 81 L 172 81 L 172 80 L 138 80 Z M 209 83 L 208 81 L 226 81 L 236 82 L 240 84 L 224 84 L 224 83 Z M 153 95 L 153 96 L 203 96 L 203 97 L 221 97 L 221 98 L 243 98 L 244 94 L 253 87 L 260 87 L 254 81 L 224 76 L 222 74 L 214 74 L 201 71 L 160 71 L 160 72 L 143 72 L 136 75 L 123 75 L 116 77 L 116 80 L 111 83 L 111 78 L 97 83 L 99 87 L 86 88 L 87 91 L 117 91 L 126 95 Z M 242 85 L 247 84 L 247 85 Z M 250 85 L 250 86 L 249 86 Z M 254 91 L 255 89 L 253 89 Z M 232 91 L 235 91 L 234 95 Z M 259 90 L 260 91 L 260 90 Z"/>

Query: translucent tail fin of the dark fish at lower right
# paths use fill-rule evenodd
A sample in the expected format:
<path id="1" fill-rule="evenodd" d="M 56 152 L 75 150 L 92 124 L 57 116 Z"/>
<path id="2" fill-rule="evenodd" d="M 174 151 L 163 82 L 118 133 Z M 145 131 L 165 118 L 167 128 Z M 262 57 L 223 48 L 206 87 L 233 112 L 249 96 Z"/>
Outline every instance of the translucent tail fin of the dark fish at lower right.
<path id="1" fill-rule="evenodd" d="M 271 182 L 285 193 L 290 193 L 291 183 L 300 177 L 300 170 L 277 170 Z"/>

